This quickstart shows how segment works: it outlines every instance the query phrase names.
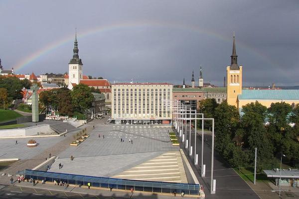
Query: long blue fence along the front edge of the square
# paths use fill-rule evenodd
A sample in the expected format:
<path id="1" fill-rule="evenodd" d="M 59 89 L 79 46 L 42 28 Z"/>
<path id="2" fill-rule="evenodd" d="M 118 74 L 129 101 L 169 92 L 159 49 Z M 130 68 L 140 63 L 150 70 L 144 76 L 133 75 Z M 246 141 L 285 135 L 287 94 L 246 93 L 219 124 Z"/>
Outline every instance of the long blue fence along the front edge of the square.
<path id="1" fill-rule="evenodd" d="M 133 188 L 136 191 L 143 192 L 157 192 L 172 194 L 184 192 L 186 195 L 199 195 L 200 185 L 198 184 L 185 184 L 185 183 L 165 183 L 155 181 L 139 181 L 139 180 L 126 180 L 117 178 L 105 178 L 94 176 L 83 176 L 75 174 L 54 173 L 45 171 L 23 170 L 18 172 L 19 175 L 24 175 L 25 178 L 44 180 L 46 182 L 67 182 L 73 185 L 84 185 L 90 183 L 92 187 L 112 188 L 120 190 L 130 190 Z"/>

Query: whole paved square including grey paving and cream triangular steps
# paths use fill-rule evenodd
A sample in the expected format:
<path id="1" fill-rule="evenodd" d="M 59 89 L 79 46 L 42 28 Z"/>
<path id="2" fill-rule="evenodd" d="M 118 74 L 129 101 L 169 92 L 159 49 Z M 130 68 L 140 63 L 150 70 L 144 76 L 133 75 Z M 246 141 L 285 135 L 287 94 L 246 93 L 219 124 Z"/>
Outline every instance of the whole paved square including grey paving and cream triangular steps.
<path id="1" fill-rule="evenodd" d="M 50 172 L 118 178 L 122 172 L 141 165 L 139 169 L 127 171 L 130 172 L 128 179 L 139 176 L 142 179 L 161 178 L 162 181 L 187 183 L 186 175 L 179 175 L 182 171 L 184 173 L 184 168 L 179 147 L 172 146 L 169 139 L 170 131 L 169 125 L 105 125 L 95 122 L 90 137 L 79 146 L 70 146 L 58 154 L 59 159 L 55 160 Z M 173 153 L 167 154 L 171 151 Z M 71 156 L 74 160 L 70 160 Z M 61 169 L 60 163 L 63 165 Z M 144 172 L 137 172 L 141 167 Z M 165 178 L 155 173 L 154 170 L 158 169 L 160 173 L 161 169 L 164 170 Z M 172 176 L 167 172 L 172 172 Z M 122 173 L 119 178 L 126 178 L 126 175 Z"/>

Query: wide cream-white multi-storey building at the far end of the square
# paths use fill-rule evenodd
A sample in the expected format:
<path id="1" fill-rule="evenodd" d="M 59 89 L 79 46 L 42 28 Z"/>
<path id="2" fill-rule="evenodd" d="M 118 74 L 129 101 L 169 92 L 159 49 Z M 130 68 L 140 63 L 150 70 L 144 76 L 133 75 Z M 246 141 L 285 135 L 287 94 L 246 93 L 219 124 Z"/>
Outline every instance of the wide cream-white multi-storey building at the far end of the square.
<path id="1" fill-rule="evenodd" d="M 112 84 L 111 119 L 115 123 L 164 123 L 172 119 L 172 84 Z"/>

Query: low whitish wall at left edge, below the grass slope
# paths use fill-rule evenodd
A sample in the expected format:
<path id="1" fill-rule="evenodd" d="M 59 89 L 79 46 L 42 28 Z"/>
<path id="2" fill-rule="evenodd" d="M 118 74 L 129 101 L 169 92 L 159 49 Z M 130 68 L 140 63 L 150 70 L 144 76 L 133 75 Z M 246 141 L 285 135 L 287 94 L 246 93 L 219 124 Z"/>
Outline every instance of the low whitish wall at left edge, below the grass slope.
<path id="1" fill-rule="evenodd" d="M 12 129 L 1 129 L 0 137 L 10 136 L 30 136 L 36 135 L 37 133 L 48 133 L 53 132 L 49 124 L 40 124 L 36 126 L 29 126 L 26 128 L 12 128 Z"/>

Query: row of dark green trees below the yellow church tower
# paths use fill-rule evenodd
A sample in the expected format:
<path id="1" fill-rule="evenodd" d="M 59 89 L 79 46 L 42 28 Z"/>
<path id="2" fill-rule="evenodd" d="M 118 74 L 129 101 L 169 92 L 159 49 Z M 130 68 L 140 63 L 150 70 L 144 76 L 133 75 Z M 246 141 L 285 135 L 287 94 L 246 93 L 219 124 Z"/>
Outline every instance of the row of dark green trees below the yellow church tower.
<path id="1" fill-rule="evenodd" d="M 249 103 L 239 115 L 226 101 L 217 104 L 206 99 L 199 112 L 215 119 L 215 149 L 232 167 L 253 166 L 256 147 L 260 171 L 276 168 L 282 153 L 291 166 L 299 167 L 299 104 L 292 107 L 277 102 L 267 108 L 259 102 Z M 204 127 L 210 128 L 211 123 L 205 122 Z"/>

